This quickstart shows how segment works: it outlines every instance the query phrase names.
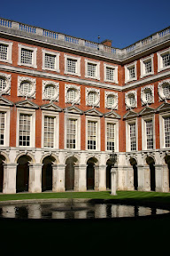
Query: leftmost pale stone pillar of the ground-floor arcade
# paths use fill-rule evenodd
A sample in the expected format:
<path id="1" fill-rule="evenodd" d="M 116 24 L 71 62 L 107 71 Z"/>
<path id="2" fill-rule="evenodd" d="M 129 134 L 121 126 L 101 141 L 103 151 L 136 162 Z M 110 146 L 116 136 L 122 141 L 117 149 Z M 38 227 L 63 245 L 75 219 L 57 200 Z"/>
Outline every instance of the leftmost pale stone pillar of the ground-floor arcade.
<path id="1" fill-rule="evenodd" d="M 4 164 L 4 194 L 16 193 L 16 175 L 18 164 Z"/>

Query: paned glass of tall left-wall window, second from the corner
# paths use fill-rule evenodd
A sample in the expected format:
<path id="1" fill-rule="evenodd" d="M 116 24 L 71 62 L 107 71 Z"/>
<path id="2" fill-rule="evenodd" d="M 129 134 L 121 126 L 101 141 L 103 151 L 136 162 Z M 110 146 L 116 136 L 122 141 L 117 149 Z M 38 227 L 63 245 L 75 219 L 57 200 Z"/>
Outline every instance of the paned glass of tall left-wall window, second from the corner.
<path id="1" fill-rule="evenodd" d="M 88 122 L 88 149 L 97 149 L 97 122 Z"/>

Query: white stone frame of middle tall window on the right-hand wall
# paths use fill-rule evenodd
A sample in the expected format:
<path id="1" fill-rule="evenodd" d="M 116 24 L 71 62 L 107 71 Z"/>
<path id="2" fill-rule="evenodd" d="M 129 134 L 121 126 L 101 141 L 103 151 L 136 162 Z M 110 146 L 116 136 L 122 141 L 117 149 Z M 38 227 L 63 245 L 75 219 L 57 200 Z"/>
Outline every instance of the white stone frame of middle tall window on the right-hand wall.
<path id="1" fill-rule="evenodd" d="M 147 148 L 147 136 L 146 136 L 146 122 L 147 121 L 152 121 L 153 124 L 153 148 L 148 149 Z M 142 116 L 142 150 L 153 150 L 155 149 L 155 115 L 151 116 Z"/>

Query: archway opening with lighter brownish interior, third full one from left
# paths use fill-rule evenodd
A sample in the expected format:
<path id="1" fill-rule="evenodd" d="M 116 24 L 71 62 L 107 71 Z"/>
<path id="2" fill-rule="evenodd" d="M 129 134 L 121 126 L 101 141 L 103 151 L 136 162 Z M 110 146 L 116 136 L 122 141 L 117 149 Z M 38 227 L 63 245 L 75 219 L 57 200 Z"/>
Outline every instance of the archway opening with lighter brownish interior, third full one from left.
<path id="1" fill-rule="evenodd" d="M 70 156 L 66 159 L 65 188 L 74 189 L 74 165 L 77 164 L 77 158 Z"/>

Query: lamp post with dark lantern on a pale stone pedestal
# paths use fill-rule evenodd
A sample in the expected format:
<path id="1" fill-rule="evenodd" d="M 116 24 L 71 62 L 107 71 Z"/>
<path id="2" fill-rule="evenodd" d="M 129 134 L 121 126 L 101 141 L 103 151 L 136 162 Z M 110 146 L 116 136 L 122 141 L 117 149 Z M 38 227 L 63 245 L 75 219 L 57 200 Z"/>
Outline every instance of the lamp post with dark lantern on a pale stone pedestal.
<path id="1" fill-rule="evenodd" d="M 110 155 L 110 160 L 112 163 L 112 169 L 111 169 L 111 195 L 116 196 L 116 169 L 114 168 L 114 164 L 117 161 L 117 155 L 114 153 L 114 150 L 112 150 L 112 154 Z"/>

